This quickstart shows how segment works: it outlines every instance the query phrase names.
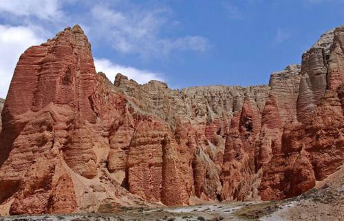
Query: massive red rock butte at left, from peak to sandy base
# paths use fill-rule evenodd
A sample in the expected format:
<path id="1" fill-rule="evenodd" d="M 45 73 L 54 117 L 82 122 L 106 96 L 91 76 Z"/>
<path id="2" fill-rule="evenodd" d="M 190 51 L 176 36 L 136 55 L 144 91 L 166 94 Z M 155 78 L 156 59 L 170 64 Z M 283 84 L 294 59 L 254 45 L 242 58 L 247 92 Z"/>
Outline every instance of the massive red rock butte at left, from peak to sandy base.
<path id="1" fill-rule="evenodd" d="M 0 202 L 10 203 L 9 213 L 69 213 L 106 198 L 122 202 L 120 183 L 104 173 L 110 128 L 128 111 L 126 102 L 96 73 L 78 25 L 26 50 L 2 112 Z M 129 193 L 126 201 L 140 202 Z"/>

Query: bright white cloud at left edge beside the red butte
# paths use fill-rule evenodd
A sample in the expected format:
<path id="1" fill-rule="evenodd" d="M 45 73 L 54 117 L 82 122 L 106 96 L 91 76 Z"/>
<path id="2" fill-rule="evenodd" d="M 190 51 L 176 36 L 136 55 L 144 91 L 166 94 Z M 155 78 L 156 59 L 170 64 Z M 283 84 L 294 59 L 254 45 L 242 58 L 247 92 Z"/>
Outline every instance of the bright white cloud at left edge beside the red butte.
<path id="1" fill-rule="evenodd" d="M 42 42 L 29 27 L 0 25 L 0 97 L 7 95 L 19 56 L 28 47 Z"/>

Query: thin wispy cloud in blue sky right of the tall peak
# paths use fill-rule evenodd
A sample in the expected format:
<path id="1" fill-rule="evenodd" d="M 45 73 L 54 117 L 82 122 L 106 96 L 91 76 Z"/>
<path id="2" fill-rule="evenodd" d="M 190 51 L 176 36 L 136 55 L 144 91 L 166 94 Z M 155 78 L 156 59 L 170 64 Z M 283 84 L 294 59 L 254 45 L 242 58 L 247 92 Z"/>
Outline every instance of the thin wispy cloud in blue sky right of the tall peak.
<path id="1" fill-rule="evenodd" d="M 164 38 L 162 29 L 171 25 L 165 8 L 153 10 L 112 10 L 95 5 L 92 16 L 98 38 L 107 40 L 122 54 L 139 54 L 143 58 L 166 56 L 171 51 L 206 51 L 208 40 L 202 36 Z"/>

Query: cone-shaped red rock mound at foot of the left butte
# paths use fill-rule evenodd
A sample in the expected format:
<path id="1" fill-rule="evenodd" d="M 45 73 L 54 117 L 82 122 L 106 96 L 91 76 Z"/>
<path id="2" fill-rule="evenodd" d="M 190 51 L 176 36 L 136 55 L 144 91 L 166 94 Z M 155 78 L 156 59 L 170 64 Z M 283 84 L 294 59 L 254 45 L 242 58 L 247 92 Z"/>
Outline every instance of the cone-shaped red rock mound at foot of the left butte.
<path id="1" fill-rule="evenodd" d="M 10 207 L 11 214 L 71 213 L 76 209 L 72 180 L 52 161 L 41 158 L 30 167 Z"/>

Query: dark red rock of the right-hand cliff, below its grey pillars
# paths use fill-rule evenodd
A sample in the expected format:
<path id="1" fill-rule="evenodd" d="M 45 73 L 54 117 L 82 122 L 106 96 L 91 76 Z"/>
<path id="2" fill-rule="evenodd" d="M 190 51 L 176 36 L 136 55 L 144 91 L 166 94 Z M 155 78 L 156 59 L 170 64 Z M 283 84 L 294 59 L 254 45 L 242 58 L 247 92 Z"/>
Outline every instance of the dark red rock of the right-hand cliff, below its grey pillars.
<path id="1" fill-rule="evenodd" d="M 343 164 L 343 67 L 341 46 L 343 26 L 333 31 L 329 58 L 324 63 L 328 73 L 326 91 L 308 121 L 288 124 L 283 131 L 281 150 L 264 170 L 260 185 L 264 200 L 297 196 L 314 187 Z M 325 50 L 326 51 L 326 50 Z M 302 71 L 301 71 L 302 72 Z M 300 93 L 301 93 L 300 82 Z M 300 96 L 299 96 L 300 99 Z M 298 100 L 299 102 L 299 100 Z M 299 104 L 299 103 L 298 103 Z M 299 111 L 299 110 L 298 110 Z"/>

